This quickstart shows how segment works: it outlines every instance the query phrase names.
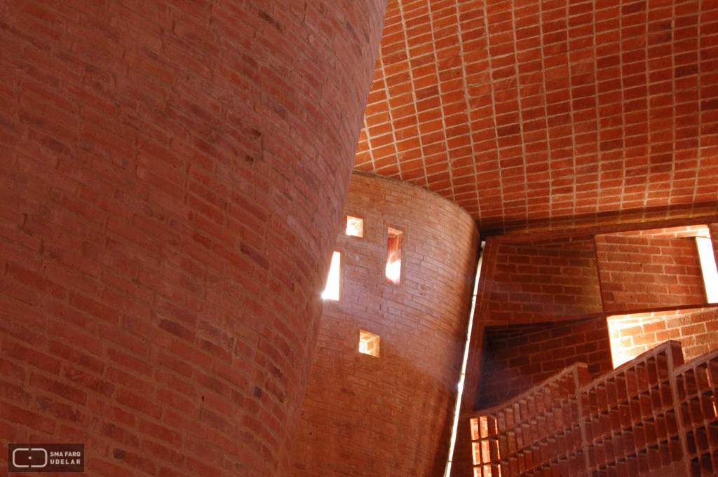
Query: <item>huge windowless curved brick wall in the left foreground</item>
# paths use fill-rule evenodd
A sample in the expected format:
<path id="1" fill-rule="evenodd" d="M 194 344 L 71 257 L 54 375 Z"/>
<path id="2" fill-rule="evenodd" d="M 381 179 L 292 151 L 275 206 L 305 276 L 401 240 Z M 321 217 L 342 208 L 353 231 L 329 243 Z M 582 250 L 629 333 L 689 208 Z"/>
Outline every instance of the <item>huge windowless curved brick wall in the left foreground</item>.
<path id="1" fill-rule="evenodd" d="M 0 1 L 0 459 L 287 473 L 385 6 Z"/>

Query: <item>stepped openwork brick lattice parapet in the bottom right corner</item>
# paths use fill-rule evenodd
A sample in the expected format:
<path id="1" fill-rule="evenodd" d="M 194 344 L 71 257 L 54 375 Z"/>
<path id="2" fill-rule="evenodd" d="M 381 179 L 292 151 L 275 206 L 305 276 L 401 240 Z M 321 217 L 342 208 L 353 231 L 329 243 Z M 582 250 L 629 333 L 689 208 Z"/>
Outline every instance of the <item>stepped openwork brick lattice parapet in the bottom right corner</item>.
<path id="1" fill-rule="evenodd" d="M 592 382 L 574 364 L 469 416 L 474 477 L 718 475 L 717 389 L 718 350 L 677 341 Z"/>

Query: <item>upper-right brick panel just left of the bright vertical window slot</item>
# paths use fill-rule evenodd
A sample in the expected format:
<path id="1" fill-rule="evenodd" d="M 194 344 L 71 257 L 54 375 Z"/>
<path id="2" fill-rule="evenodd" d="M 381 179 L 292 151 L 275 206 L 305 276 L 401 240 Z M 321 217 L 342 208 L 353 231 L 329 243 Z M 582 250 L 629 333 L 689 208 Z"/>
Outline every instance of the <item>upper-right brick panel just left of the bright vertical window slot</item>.
<path id="1" fill-rule="evenodd" d="M 694 238 L 597 235 L 596 250 L 607 312 L 707 302 Z"/>

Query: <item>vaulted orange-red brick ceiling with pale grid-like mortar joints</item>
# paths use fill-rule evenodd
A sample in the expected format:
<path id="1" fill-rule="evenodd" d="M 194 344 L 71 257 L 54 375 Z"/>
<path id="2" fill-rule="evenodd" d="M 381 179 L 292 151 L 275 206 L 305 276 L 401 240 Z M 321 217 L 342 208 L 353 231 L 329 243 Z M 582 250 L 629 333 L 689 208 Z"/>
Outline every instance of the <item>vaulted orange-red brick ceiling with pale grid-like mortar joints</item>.
<path id="1" fill-rule="evenodd" d="M 355 169 L 483 232 L 715 213 L 718 0 L 390 0 Z"/>

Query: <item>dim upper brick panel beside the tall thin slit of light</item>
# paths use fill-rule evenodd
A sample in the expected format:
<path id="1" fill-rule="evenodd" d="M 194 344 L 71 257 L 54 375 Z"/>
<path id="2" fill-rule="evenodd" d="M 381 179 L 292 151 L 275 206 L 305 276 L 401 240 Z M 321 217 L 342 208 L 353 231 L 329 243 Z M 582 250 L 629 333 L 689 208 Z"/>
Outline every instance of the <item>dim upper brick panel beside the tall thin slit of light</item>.
<path id="1" fill-rule="evenodd" d="M 482 320 L 488 326 L 601 313 L 591 240 L 534 246 L 498 244 L 485 255 Z"/>

